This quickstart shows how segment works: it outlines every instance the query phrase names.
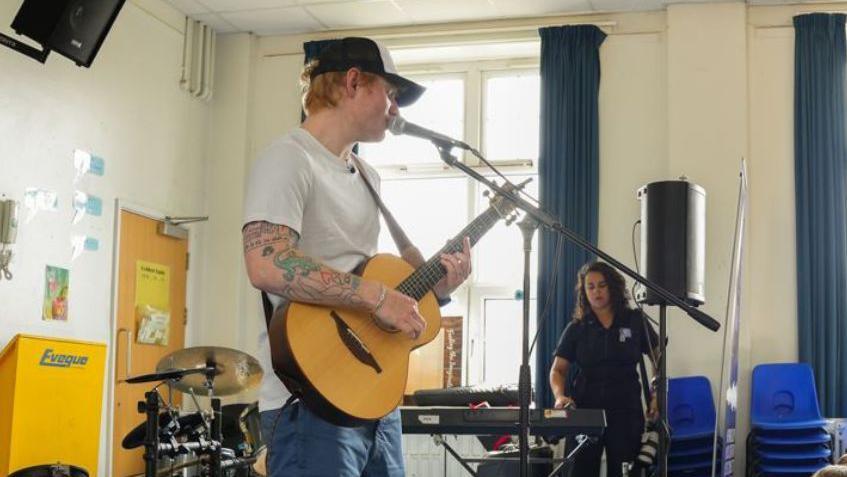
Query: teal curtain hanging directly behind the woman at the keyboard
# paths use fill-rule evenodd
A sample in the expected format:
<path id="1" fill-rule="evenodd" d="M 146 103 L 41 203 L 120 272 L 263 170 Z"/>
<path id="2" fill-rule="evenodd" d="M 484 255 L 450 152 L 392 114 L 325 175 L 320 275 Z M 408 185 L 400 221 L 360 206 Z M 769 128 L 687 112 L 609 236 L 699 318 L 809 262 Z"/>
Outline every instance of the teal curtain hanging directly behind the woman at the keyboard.
<path id="1" fill-rule="evenodd" d="M 541 35 L 541 138 L 538 186 L 541 206 L 593 244 L 597 243 L 599 195 L 600 45 L 606 34 L 593 25 L 550 27 Z M 554 277 L 549 316 L 539 323 L 535 399 L 553 405 L 548 375 L 559 335 L 570 321 L 579 267 L 592 254 L 565 243 L 555 261 L 559 237 L 540 230 L 538 317 Z"/>

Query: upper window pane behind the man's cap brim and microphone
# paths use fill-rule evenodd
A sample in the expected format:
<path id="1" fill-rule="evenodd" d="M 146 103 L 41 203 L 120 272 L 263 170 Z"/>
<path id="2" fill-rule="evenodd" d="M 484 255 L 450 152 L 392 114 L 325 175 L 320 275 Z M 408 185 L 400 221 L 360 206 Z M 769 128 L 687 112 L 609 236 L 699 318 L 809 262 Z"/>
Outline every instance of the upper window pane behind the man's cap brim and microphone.
<path id="1" fill-rule="evenodd" d="M 462 140 L 465 130 L 465 81 L 462 78 L 416 80 L 426 92 L 400 114 L 410 122 Z M 386 133 L 380 143 L 361 143 L 359 153 L 374 166 L 440 163 L 429 141 Z"/>

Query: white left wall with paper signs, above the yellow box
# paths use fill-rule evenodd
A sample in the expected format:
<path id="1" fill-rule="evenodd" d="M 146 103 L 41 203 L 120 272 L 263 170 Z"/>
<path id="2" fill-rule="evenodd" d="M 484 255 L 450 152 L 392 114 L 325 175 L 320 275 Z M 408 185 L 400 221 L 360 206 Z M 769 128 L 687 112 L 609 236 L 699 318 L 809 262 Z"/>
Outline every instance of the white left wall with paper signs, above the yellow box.
<path id="1" fill-rule="evenodd" d="M 0 2 L 0 25 L 20 3 Z M 0 344 L 17 333 L 109 342 L 115 199 L 162 214 L 204 212 L 210 108 L 178 86 L 183 21 L 159 0 L 127 2 L 90 69 L 0 48 L 0 194 L 22 200 L 25 188 L 39 187 L 59 196 L 57 212 L 20 226 L 14 279 L 0 281 Z M 105 176 L 79 184 L 103 200 L 103 215 L 72 225 L 76 148 L 105 158 Z M 99 239 L 100 250 L 71 262 L 70 236 L 80 233 Z M 195 239 L 200 251 L 201 234 Z M 66 323 L 41 320 L 47 264 L 70 269 Z M 189 308 L 197 301 L 189 296 Z M 108 473 L 106 409 L 104 393 L 100 475 Z"/>

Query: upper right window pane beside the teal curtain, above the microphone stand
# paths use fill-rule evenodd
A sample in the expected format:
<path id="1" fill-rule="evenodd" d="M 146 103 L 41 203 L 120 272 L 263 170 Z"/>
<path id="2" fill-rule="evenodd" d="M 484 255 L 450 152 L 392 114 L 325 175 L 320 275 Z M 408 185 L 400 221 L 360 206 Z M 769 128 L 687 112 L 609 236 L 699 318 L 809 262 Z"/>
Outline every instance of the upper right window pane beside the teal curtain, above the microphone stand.
<path id="1" fill-rule="evenodd" d="M 487 159 L 538 157 L 540 98 L 537 72 L 485 81 L 483 144 Z"/>

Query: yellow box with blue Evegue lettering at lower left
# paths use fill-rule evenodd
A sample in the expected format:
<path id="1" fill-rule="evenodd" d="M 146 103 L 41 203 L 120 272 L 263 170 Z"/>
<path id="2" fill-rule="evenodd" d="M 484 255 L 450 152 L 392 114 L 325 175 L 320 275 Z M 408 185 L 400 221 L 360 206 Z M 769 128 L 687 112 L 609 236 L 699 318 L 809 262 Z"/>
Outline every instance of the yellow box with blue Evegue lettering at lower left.
<path id="1" fill-rule="evenodd" d="M 106 345 L 16 335 L 0 352 L 0 476 L 61 462 L 97 475 Z"/>

